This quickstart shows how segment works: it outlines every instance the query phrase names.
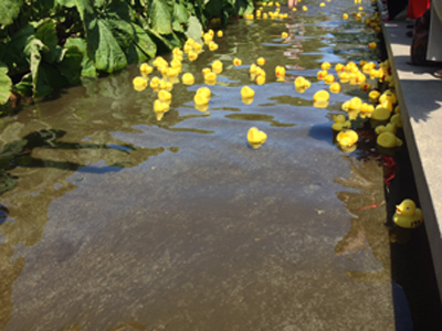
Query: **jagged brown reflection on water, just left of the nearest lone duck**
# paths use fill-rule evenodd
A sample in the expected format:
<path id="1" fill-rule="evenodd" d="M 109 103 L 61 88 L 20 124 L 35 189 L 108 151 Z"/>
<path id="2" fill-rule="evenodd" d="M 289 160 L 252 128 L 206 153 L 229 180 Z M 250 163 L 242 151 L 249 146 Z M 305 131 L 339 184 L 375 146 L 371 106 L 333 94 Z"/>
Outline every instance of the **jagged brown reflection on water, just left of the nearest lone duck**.
<path id="1" fill-rule="evenodd" d="M 386 282 L 391 278 L 390 255 L 386 250 L 389 245 L 383 226 L 387 214 L 382 185 L 382 167 L 376 162 L 360 161 L 344 156 L 349 162 L 349 177 L 338 177 L 336 183 L 346 188 L 346 191 L 336 192 L 337 197 L 351 213 L 350 228 L 337 243 L 336 255 L 358 255 L 360 249 L 369 250 L 379 265 L 357 266 L 357 269 L 347 270 L 347 275 L 355 281 Z M 367 269 L 367 270 L 361 270 Z"/>

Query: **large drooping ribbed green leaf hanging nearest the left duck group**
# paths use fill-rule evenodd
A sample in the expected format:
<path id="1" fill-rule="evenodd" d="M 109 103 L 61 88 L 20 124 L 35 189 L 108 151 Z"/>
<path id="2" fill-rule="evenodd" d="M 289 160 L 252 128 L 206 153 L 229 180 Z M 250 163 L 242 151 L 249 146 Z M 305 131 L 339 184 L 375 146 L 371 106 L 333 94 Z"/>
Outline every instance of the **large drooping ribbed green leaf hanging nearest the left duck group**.
<path id="1" fill-rule="evenodd" d="M 105 21 L 94 19 L 87 29 L 87 53 L 99 71 L 113 73 L 127 65 L 125 53 Z"/>

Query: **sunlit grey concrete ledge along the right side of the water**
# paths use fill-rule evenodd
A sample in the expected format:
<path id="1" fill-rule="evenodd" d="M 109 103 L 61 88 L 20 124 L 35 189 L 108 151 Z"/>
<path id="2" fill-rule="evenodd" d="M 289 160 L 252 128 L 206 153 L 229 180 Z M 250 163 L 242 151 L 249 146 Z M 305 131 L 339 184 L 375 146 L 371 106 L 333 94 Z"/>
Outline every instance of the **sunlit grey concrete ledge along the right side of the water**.
<path id="1" fill-rule="evenodd" d="M 442 79 L 432 75 L 442 67 L 410 64 L 407 24 L 388 21 L 382 29 L 442 299 Z"/>

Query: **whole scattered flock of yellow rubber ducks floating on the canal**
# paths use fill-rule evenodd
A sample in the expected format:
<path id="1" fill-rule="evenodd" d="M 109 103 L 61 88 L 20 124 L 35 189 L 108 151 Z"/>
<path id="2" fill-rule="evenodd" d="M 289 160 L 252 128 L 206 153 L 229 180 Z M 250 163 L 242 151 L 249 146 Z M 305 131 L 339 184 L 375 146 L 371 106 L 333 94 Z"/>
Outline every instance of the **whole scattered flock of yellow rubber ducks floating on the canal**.
<path id="1" fill-rule="evenodd" d="M 299 0 L 301 1 L 301 0 Z M 360 0 L 355 0 L 355 3 Z M 286 14 L 281 13 L 280 4 L 274 3 L 276 10 L 274 12 L 262 12 L 262 8 L 255 11 L 256 18 L 272 18 L 283 19 Z M 273 6 L 267 2 L 266 6 Z M 296 10 L 294 8 L 294 10 Z M 304 8 L 304 10 L 307 10 Z M 359 8 L 359 12 L 352 13 L 357 21 L 361 21 L 366 15 Z M 348 14 L 344 14 L 344 19 L 348 19 Z M 380 31 L 380 18 L 375 13 L 373 18 L 366 18 L 365 23 L 372 28 L 375 31 Z M 156 57 L 150 66 L 148 63 L 140 65 L 140 76 L 133 79 L 134 88 L 138 92 L 146 89 L 148 86 L 157 93 L 157 99 L 154 102 L 154 111 L 157 120 L 161 120 L 167 111 L 170 109 L 172 99 L 171 90 L 175 84 L 182 83 L 185 85 L 192 85 L 196 78 L 192 73 L 182 73 L 182 61 L 185 56 L 189 62 L 198 60 L 198 56 L 204 49 L 209 51 L 218 50 L 218 44 L 214 38 L 222 38 L 223 32 L 220 30 L 217 33 L 213 30 L 202 33 L 201 40 L 203 43 L 197 42 L 193 39 L 188 39 L 182 47 L 172 51 L 172 60 L 167 62 L 164 57 Z M 281 38 L 286 39 L 287 32 L 282 32 Z M 377 44 L 371 42 L 367 45 L 368 49 L 376 50 Z M 242 65 L 242 60 L 234 57 L 233 65 Z M 256 85 L 266 83 L 266 72 L 264 70 L 265 58 L 257 57 L 255 63 L 250 64 L 249 73 L 250 78 Z M 159 73 L 158 76 L 149 77 L 154 68 Z M 196 109 L 206 111 L 209 108 L 211 98 L 210 85 L 217 84 L 217 75 L 223 71 L 223 63 L 214 61 L 211 66 L 204 67 L 201 75 L 206 83 L 204 87 L 200 87 L 193 96 Z M 337 63 L 334 65 L 334 73 L 332 72 L 332 64 L 324 62 L 317 72 L 317 79 L 324 82 L 328 86 L 327 89 L 320 89 L 313 96 L 313 105 L 317 108 L 326 108 L 329 103 L 330 93 L 337 94 L 341 90 L 341 84 L 359 85 L 362 93 L 367 93 L 368 103 L 359 97 L 352 97 L 341 105 L 344 114 L 334 116 L 334 124 L 332 129 L 336 132 L 336 141 L 339 149 L 351 152 L 356 150 L 359 136 L 356 129 L 352 129 L 352 121 L 357 119 L 369 120 L 377 136 L 377 145 L 380 148 L 394 149 L 402 145 L 396 134 L 399 128 L 402 128 L 400 109 L 398 106 L 398 98 L 394 93 L 394 83 L 391 76 L 391 68 L 389 61 L 385 61 L 379 65 L 375 62 L 360 61 L 358 64 L 349 62 L 347 64 Z M 285 67 L 276 66 L 274 70 L 274 78 L 276 82 L 285 82 Z M 369 81 L 370 79 L 370 81 Z M 371 82 L 371 83 L 370 83 Z M 373 88 L 377 85 L 378 88 Z M 295 90 L 304 93 L 312 86 L 312 83 L 303 77 L 297 76 L 294 81 Z M 379 86 L 386 87 L 381 90 Z M 255 92 L 250 86 L 241 88 L 241 99 L 244 104 L 253 103 Z M 246 135 L 248 142 L 251 148 L 259 149 L 267 139 L 267 135 L 256 127 L 249 129 Z M 394 223 L 401 227 L 417 227 L 422 223 L 422 212 L 415 207 L 411 200 L 403 201 L 397 206 L 397 213 L 393 217 Z"/>

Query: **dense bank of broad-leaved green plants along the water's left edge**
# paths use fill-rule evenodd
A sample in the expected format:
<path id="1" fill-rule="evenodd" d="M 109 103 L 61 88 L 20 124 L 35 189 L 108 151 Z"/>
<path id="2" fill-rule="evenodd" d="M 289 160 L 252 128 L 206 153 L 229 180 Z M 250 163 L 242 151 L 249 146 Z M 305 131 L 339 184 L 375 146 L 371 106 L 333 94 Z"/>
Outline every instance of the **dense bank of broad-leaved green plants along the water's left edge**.
<path id="1" fill-rule="evenodd" d="M 11 90 L 44 97 L 112 74 L 199 39 L 212 18 L 252 11 L 252 0 L 3 0 L 0 105 Z"/>

